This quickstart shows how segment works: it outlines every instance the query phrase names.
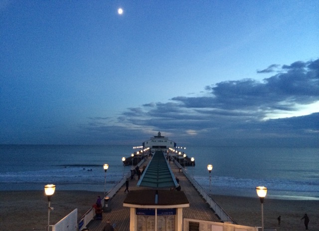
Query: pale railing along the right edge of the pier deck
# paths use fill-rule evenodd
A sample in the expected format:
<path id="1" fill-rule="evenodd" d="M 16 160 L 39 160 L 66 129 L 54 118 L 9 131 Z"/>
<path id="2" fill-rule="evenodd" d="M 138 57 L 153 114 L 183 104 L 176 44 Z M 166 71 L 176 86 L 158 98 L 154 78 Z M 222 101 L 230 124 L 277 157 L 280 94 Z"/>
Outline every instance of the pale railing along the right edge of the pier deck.
<path id="1" fill-rule="evenodd" d="M 218 204 L 212 199 L 206 190 L 200 186 L 193 178 L 190 176 L 185 168 L 183 168 L 177 161 L 174 161 L 175 165 L 182 171 L 188 181 L 195 187 L 198 193 L 203 197 L 203 199 L 208 203 L 210 208 L 212 208 L 215 214 L 224 223 L 237 224 L 234 219 L 232 219 Z"/>

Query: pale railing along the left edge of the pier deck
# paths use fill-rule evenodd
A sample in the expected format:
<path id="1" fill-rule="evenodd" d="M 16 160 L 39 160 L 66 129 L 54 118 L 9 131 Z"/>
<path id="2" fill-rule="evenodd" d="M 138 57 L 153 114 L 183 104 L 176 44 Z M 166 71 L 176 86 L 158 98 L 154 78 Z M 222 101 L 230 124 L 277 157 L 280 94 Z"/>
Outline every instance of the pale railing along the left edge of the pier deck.
<path id="1" fill-rule="evenodd" d="M 141 165 L 145 162 L 145 158 L 142 159 L 137 166 L 141 167 Z M 114 197 L 114 195 L 121 189 L 121 187 L 124 185 L 125 181 L 127 178 L 131 177 L 131 172 L 127 173 L 126 175 L 124 175 L 124 177 L 110 190 L 108 191 L 101 203 L 102 205 L 104 204 L 104 198 L 105 197 L 109 197 L 110 199 L 112 199 L 112 197 Z M 93 219 L 94 219 L 94 210 L 93 208 L 89 209 L 88 212 L 86 212 L 79 220 L 78 220 L 78 228 L 79 231 L 83 230 Z"/>

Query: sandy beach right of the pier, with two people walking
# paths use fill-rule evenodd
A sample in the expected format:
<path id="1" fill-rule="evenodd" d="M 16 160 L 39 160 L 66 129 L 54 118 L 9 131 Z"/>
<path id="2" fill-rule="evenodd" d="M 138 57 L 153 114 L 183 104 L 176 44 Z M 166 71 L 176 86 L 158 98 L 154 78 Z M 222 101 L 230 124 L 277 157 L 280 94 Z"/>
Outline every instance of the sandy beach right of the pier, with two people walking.
<path id="1" fill-rule="evenodd" d="M 259 198 L 214 196 L 214 200 L 239 224 L 261 227 L 261 204 Z M 303 231 L 307 213 L 310 218 L 308 229 L 319 231 L 319 201 L 275 200 L 265 198 L 265 229 L 277 231 Z M 277 218 L 281 216 L 281 225 Z"/>

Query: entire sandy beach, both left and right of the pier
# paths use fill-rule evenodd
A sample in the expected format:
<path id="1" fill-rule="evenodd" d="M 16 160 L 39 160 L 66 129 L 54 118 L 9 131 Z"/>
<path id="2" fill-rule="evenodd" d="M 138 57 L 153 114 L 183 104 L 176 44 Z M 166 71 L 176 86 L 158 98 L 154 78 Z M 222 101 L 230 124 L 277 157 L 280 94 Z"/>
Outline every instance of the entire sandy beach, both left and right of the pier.
<path id="1" fill-rule="evenodd" d="M 54 210 L 50 224 L 55 224 L 74 209 L 78 218 L 96 202 L 99 193 L 87 191 L 57 191 L 51 199 Z M 214 200 L 240 225 L 261 226 L 261 206 L 258 198 L 214 196 Z M 0 191 L 0 231 L 32 231 L 45 229 L 48 201 L 44 191 Z M 288 201 L 265 199 L 265 229 L 303 231 L 301 218 L 307 213 L 309 230 L 319 231 L 319 201 Z M 278 226 L 277 217 L 281 216 Z"/>

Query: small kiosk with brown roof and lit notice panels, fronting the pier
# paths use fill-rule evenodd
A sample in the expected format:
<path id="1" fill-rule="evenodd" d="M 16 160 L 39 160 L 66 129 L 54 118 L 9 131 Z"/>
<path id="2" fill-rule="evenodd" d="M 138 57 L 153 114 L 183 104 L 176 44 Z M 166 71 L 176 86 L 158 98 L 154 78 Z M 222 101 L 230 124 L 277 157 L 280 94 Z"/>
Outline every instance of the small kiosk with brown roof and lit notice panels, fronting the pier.
<path id="1" fill-rule="evenodd" d="M 123 203 L 130 207 L 130 231 L 182 231 L 182 209 L 189 202 L 182 191 L 131 191 Z"/>

